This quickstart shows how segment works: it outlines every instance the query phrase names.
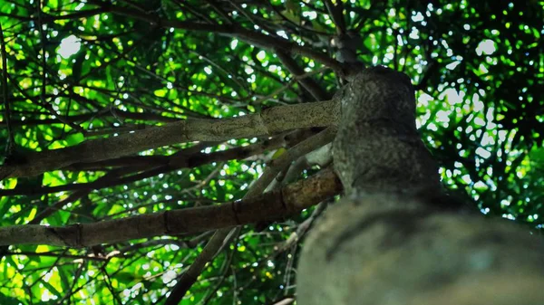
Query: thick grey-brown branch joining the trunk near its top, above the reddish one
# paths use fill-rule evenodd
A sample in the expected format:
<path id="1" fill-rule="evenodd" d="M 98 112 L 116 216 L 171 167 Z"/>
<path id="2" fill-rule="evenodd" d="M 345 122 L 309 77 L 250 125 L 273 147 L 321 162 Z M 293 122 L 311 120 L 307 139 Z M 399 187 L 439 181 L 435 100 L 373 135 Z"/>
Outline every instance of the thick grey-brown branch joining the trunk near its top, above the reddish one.
<path id="1" fill-rule="evenodd" d="M 94 162 L 131 155 L 142 150 L 160 148 L 189 141 L 218 141 L 231 138 L 271 136 L 289 129 L 326 127 L 335 124 L 338 103 L 325 100 L 314 103 L 269 108 L 259 114 L 232 119 L 189 119 L 42 152 L 33 152 L 22 165 L 3 165 L 0 178 L 35 176 L 49 170 L 68 167 L 77 162 Z"/>

